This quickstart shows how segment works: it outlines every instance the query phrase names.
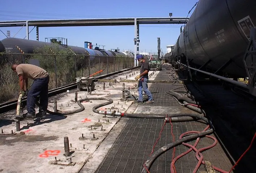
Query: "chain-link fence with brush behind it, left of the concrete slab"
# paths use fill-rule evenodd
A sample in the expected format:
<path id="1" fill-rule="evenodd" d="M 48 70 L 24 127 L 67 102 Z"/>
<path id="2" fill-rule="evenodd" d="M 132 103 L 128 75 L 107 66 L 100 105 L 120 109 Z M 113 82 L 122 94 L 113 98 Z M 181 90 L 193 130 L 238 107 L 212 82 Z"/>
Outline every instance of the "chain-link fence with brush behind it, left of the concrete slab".
<path id="1" fill-rule="evenodd" d="M 17 73 L 11 66 L 16 64 L 39 63 L 39 67 L 45 69 L 50 76 L 49 90 L 71 84 L 76 77 L 88 77 L 100 70 L 95 76 L 119 71 L 133 67 L 133 58 L 118 56 L 89 56 L 74 54 L 52 54 L 52 51 L 44 51 L 44 54 L 0 54 L 0 104 L 16 100 L 19 92 Z M 28 86 L 33 80 L 28 80 Z"/>

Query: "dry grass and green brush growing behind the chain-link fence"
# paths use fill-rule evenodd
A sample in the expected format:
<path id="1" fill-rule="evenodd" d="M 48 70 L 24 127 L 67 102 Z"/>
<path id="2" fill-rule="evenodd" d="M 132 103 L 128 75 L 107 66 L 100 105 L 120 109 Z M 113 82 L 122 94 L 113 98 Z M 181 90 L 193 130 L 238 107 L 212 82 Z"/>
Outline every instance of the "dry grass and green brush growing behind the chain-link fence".
<path id="1" fill-rule="evenodd" d="M 22 57 L 22 56 L 25 56 Z M 49 90 L 56 88 L 55 79 L 57 78 L 57 87 L 61 87 L 64 85 L 68 85 L 75 81 L 75 77 L 87 77 L 90 74 L 98 72 L 99 70 L 103 70 L 103 72 L 98 73 L 94 76 L 99 76 L 102 74 L 107 74 L 119 71 L 124 68 L 133 67 L 133 59 L 132 58 L 123 58 L 123 57 L 115 57 L 115 63 L 109 62 L 104 63 L 106 60 L 101 60 L 101 63 L 91 63 L 91 66 L 88 67 L 88 61 L 81 58 L 82 55 L 30 55 L 29 58 L 26 55 L 13 55 L 12 59 L 15 60 L 16 63 L 21 63 L 21 60 L 24 59 L 25 63 L 29 62 L 30 58 L 38 59 L 40 63 L 40 67 L 47 70 L 50 75 L 49 81 Z M 18 59 L 15 59 L 15 57 Z M 1 57 L 0 57 L 1 58 Z M 56 69 L 57 76 L 55 76 L 55 63 L 54 58 L 56 58 Z M 77 58 L 77 59 L 75 59 Z M 104 57 L 103 57 L 104 58 Z M 107 57 L 106 57 L 107 58 Z M 105 59 L 106 59 L 105 58 Z M 113 58 L 112 58 L 113 59 Z M 13 61 L 12 61 L 13 62 Z M 84 62 L 81 65 L 79 70 L 75 68 L 75 62 Z M 0 104 L 6 101 L 15 100 L 18 97 L 19 85 L 18 85 L 18 76 L 15 72 L 10 68 L 12 63 L 5 63 L 4 65 L 0 65 Z M 29 79 L 29 88 L 32 85 L 33 80 Z"/>

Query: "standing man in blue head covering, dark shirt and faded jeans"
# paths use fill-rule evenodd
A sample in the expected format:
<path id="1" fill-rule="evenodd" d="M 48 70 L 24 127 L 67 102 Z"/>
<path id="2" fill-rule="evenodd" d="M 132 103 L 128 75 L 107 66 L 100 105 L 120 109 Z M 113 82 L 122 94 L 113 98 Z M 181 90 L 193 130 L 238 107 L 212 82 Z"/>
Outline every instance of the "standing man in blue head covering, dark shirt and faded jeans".
<path id="1" fill-rule="evenodd" d="M 145 103 L 154 103 L 151 92 L 148 89 L 148 72 L 149 72 L 149 63 L 145 61 L 143 55 L 137 55 L 136 59 L 141 63 L 140 74 L 135 77 L 136 80 L 139 80 L 138 83 L 138 100 L 135 100 L 136 103 L 143 103 L 142 89 L 146 95 L 148 95 L 149 100 Z"/>

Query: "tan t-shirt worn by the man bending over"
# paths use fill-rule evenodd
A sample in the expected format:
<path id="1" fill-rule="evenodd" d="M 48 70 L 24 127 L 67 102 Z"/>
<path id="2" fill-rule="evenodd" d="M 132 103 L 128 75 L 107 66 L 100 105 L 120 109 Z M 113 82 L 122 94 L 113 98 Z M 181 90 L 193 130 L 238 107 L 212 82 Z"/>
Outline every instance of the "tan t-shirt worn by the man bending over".
<path id="1" fill-rule="evenodd" d="M 16 67 L 17 74 L 23 74 L 24 78 L 37 79 L 49 76 L 46 70 L 32 64 L 19 64 Z"/>

